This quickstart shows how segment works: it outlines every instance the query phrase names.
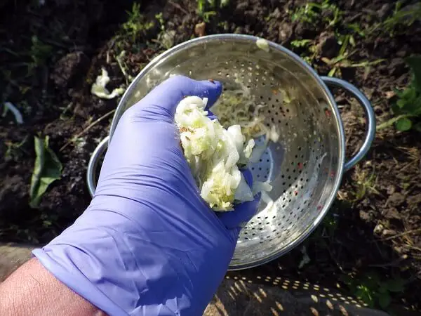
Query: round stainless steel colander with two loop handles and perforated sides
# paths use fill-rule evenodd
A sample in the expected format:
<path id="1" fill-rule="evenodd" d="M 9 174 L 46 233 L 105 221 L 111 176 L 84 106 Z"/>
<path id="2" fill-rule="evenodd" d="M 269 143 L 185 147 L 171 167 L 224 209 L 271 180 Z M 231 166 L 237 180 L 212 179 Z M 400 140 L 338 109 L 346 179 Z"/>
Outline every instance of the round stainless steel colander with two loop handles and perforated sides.
<path id="1" fill-rule="evenodd" d="M 269 47 L 259 47 L 257 40 L 239 34 L 211 35 L 182 43 L 154 58 L 121 99 L 109 134 L 112 138 L 128 107 L 172 74 L 222 81 L 224 93 L 241 89 L 265 105 L 265 124 L 276 125 L 280 138 L 269 143 L 250 169 L 255 180 L 271 181 L 273 190 L 241 230 L 231 270 L 267 263 L 302 242 L 328 212 L 342 172 L 363 158 L 375 136 L 373 109 L 357 88 L 341 79 L 319 77 L 288 49 L 269 41 Z M 346 163 L 345 132 L 326 85 L 344 88 L 366 113 L 366 139 Z M 91 195 L 98 160 L 109 138 L 98 145 L 88 165 Z M 259 138 L 256 143 L 263 141 Z"/>

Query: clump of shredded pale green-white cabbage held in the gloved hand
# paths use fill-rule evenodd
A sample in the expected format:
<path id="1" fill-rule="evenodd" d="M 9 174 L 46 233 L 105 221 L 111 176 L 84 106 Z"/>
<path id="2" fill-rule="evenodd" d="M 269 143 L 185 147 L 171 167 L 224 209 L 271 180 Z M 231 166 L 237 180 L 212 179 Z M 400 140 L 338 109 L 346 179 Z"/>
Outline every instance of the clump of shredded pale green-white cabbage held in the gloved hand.
<path id="1" fill-rule="evenodd" d="M 209 119 L 207 101 L 196 96 L 183 99 L 175 124 L 201 197 L 214 211 L 232 211 L 235 203 L 253 200 L 253 193 L 270 185 L 256 181 L 250 189 L 239 167 L 248 164 L 254 140 L 246 141 L 239 125 L 224 129 L 217 119 Z"/>

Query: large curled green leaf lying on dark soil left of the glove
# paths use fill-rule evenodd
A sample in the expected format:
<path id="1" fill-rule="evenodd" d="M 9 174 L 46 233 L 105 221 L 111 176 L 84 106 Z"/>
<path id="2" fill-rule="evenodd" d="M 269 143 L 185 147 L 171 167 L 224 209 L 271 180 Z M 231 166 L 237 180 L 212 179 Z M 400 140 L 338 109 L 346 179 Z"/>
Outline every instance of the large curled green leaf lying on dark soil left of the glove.
<path id="1" fill-rule="evenodd" d="M 29 206 L 36 208 L 48 185 L 60 179 L 62 164 L 53 150 L 48 147 L 48 136 L 45 140 L 34 137 L 36 159 L 32 171 Z"/>

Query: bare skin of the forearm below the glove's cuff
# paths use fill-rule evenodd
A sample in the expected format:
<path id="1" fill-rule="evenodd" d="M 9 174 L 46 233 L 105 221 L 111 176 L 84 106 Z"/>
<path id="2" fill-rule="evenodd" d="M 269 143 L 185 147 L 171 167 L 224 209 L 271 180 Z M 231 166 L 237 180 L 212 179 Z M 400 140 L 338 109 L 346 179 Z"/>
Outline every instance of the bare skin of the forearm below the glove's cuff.
<path id="1" fill-rule="evenodd" d="M 0 315 L 105 315 L 62 284 L 35 258 L 0 284 Z"/>

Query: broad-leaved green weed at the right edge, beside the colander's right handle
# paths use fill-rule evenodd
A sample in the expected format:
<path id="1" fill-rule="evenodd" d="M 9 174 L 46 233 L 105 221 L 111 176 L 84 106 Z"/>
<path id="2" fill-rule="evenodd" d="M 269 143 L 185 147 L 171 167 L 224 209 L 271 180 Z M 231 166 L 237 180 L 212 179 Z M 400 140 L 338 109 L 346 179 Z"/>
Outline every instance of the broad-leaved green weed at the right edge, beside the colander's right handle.
<path id="1" fill-rule="evenodd" d="M 392 111 L 396 116 L 377 126 L 377 131 L 392 125 L 398 131 L 421 131 L 421 122 L 414 123 L 421 116 L 421 55 L 406 58 L 406 63 L 412 72 L 410 84 L 403 91 L 395 91 L 397 101 Z"/>

